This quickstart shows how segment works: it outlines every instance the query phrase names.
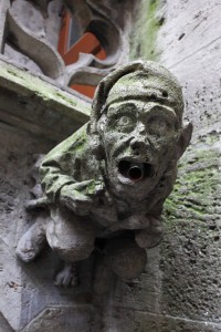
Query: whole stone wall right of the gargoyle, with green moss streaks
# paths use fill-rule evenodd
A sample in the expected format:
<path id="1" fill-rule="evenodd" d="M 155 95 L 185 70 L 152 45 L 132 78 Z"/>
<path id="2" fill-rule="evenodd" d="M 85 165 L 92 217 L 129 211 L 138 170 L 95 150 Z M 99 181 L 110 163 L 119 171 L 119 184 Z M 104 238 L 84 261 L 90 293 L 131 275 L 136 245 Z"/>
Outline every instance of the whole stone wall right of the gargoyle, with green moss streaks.
<path id="1" fill-rule="evenodd" d="M 166 203 L 165 239 L 149 251 L 147 276 L 133 287 L 135 298 L 122 295 L 126 305 L 116 304 L 123 314 L 130 310 L 136 323 L 126 330 L 117 320 L 119 331 L 221 331 L 220 6 L 141 1 L 138 9 L 138 17 L 147 7 L 155 12 L 146 24 L 137 21 L 131 58 L 157 60 L 178 77 L 194 131 Z M 145 49 L 144 35 L 150 35 L 151 50 Z"/>

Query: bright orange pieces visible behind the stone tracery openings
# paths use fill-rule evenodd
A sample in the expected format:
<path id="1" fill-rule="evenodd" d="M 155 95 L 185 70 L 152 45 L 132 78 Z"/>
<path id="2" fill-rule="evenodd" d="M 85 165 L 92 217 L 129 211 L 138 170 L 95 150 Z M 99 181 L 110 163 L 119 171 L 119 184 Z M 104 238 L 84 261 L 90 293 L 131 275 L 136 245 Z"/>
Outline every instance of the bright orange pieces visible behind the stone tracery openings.
<path id="1" fill-rule="evenodd" d="M 63 11 L 61 21 L 61 31 L 59 38 L 57 50 L 62 55 L 64 63 L 66 65 L 72 64 L 78 60 L 80 53 L 91 53 L 99 60 L 106 59 L 106 52 L 101 45 L 101 42 L 92 32 L 85 32 L 82 37 L 77 38 L 77 31 L 75 33 L 75 39 L 77 39 L 73 44 L 69 45 L 71 35 L 73 31 L 72 17 L 69 12 Z M 96 86 L 83 85 L 83 84 L 72 84 L 71 87 L 77 92 L 93 98 Z"/>

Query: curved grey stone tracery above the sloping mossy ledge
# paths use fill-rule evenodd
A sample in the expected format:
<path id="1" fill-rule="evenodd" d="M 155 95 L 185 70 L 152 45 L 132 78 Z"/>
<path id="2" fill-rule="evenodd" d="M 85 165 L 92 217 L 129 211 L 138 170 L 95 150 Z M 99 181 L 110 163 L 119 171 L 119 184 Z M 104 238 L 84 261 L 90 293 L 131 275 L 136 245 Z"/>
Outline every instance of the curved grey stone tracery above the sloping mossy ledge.
<path id="1" fill-rule="evenodd" d="M 75 63 L 65 65 L 57 51 L 63 2 L 78 25 L 78 40 L 85 32 L 94 33 L 105 50 L 104 60 L 80 52 Z M 0 53 L 15 65 L 55 80 L 65 90 L 72 84 L 97 85 L 107 73 L 128 59 L 134 6 L 135 1 L 129 0 L 1 0 Z"/>

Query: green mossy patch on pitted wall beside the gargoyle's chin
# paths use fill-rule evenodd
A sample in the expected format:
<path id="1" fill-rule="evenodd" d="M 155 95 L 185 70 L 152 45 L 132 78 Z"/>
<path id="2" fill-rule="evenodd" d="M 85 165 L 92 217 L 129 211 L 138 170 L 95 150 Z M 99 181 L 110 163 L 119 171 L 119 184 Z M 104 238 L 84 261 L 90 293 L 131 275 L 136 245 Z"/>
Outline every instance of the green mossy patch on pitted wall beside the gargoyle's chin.
<path id="1" fill-rule="evenodd" d="M 213 215 L 220 183 L 219 158 L 218 149 L 193 149 L 183 158 L 173 191 L 165 203 L 168 222 L 178 219 L 206 221 Z"/>

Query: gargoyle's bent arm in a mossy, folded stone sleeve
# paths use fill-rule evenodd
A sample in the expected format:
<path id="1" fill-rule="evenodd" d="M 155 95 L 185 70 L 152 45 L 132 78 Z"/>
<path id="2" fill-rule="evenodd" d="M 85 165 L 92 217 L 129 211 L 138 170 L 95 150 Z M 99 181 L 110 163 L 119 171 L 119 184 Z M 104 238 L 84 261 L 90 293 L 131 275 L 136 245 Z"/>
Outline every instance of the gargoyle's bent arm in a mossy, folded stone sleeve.
<path id="1" fill-rule="evenodd" d="M 102 183 L 94 179 L 80 181 L 74 176 L 74 169 L 80 167 L 76 156 L 81 149 L 81 157 L 88 157 L 87 148 L 84 126 L 52 149 L 40 167 L 42 188 L 50 201 L 64 205 L 80 215 L 85 215 L 92 209 L 98 199 L 97 195 L 103 190 Z"/>

